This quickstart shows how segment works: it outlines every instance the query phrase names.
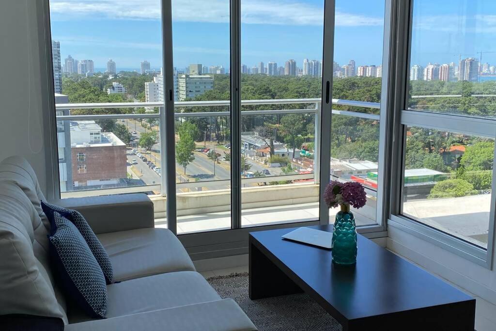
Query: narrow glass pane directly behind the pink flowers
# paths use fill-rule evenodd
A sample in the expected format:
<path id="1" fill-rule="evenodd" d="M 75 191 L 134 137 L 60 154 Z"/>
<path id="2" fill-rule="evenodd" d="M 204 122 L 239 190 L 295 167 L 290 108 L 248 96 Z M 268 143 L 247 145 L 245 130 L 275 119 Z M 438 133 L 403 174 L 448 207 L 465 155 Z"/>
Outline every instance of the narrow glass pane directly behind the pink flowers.
<path id="1" fill-rule="evenodd" d="M 384 189 L 379 139 L 385 2 L 357 2 L 336 1 L 330 176 L 365 187 L 367 204 L 352 211 L 357 225 L 372 225 L 381 220 L 378 193 Z M 348 17 L 355 21 L 346 21 Z M 337 211 L 329 210 L 331 222 Z"/>

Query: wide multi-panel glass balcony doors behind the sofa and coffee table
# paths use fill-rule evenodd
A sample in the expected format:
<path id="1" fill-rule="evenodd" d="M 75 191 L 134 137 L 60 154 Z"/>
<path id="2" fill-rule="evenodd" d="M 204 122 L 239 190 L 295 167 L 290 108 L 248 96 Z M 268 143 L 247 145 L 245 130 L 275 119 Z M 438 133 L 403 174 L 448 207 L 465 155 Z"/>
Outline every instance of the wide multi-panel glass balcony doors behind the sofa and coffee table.
<path id="1" fill-rule="evenodd" d="M 243 0 L 239 18 L 229 0 L 197 1 L 194 15 L 174 0 L 172 22 L 159 14 L 167 1 L 121 1 L 91 14 L 50 2 L 56 120 L 65 137 L 59 153 L 69 163 L 62 198 L 145 192 L 157 196 L 163 217 L 167 191 L 176 202 L 167 226 L 176 233 L 246 233 L 332 221 L 335 210 L 320 206 L 320 191 L 335 179 L 363 183 L 369 202 L 356 211 L 358 223 L 372 230 L 380 223 L 383 2 L 337 1 L 334 11 L 333 1 L 302 0 L 279 11 L 283 3 Z M 323 32 L 334 21 L 324 21 L 327 10 L 336 13 L 335 54 L 324 62 Z M 168 23 L 173 31 L 161 31 Z M 162 32 L 174 34 L 164 38 L 172 45 L 161 44 Z M 139 68 L 152 57 L 151 69 Z M 322 100 L 328 68 L 332 107 Z M 175 170 L 175 180 L 162 169 Z"/>

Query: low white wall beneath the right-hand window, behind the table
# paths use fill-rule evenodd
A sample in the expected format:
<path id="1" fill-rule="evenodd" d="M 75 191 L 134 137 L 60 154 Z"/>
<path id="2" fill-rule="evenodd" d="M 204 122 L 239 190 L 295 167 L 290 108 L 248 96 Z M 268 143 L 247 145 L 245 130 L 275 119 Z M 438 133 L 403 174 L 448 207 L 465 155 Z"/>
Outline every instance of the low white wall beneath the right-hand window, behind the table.
<path id="1" fill-rule="evenodd" d="M 496 304 L 496 271 L 476 265 L 401 229 L 388 226 L 387 248 Z M 495 255 L 493 254 L 493 265 Z"/>

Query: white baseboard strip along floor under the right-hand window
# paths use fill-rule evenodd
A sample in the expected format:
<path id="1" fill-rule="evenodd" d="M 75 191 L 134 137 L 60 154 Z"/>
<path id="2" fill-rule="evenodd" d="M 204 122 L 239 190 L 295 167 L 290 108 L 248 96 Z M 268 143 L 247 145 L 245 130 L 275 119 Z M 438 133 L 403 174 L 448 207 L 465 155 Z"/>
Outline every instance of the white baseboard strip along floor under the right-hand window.
<path id="1" fill-rule="evenodd" d="M 496 304 L 496 291 L 494 289 L 491 289 L 490 287 L 481 284 L 446 265 L 442 265 L 438 261 L 435 261 L 426 255 L 420 254 L 410 247 L 407 247 L 391 238 L 387 239 L 387 248 L 392 252 L 410 260 L 411 262 L 418 264 L 435 276 L 455 284 L 461 289 L 467 291 L 468 294 L 476 295 L 486 301 Z"/>

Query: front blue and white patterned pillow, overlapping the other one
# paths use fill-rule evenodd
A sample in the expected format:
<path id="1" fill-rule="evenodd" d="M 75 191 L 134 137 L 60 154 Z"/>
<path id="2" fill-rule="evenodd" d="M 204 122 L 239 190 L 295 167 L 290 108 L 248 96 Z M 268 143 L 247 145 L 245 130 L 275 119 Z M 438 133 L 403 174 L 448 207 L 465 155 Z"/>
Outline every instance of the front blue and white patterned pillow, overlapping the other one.
<path id="1" fill-rule="evenodd" d="M 88 244 L 76 226 L 53 212 L 57 230 L 49 236 L 50 254 L 66 296 L 93 318 L 105 318 L 107 284 Z"/>

